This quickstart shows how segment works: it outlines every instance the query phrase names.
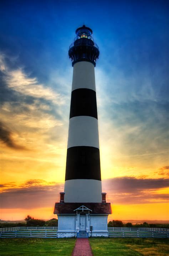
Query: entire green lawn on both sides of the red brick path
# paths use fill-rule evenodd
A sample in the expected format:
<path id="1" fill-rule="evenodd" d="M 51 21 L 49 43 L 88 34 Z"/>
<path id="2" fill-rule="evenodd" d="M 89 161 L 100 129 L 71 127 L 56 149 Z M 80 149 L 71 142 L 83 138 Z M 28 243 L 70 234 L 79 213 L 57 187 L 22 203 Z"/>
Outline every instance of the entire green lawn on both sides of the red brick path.
<path id="1" fill-rule="evenodd" d="M 75 238 L 4 238 L 0 256 L 71 256 Z M 157 238 L 89 238 L 94 256 L 169 256 L 169 240 Z"/>

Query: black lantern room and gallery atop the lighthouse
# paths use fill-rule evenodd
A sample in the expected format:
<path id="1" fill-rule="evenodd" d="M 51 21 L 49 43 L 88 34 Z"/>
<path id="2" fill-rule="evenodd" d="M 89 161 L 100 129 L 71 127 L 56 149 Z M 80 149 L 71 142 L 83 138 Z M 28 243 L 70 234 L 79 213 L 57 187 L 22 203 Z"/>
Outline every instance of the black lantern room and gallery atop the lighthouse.
<path id="1" fill-rule="evenodd" d="M 89 61 L 96 66 L 99 56 L 99 49 L 92 38 L 92 29 L 83 25 L 76 29 L 76 37 L 69 47 L 69 57 L 72 59 L 72 66 L 79 61 Z"/>

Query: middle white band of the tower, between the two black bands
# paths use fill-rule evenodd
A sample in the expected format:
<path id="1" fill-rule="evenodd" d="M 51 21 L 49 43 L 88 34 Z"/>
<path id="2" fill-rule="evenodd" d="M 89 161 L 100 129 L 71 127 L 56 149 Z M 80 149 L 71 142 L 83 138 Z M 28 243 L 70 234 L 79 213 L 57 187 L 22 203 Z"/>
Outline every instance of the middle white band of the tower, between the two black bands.
<path id="1" fill-rule="evenodd" d="M 96 118 L 78 116 L 70 119 L 67 148 L 76 146 L 99 148 L 98 121 Z"/>

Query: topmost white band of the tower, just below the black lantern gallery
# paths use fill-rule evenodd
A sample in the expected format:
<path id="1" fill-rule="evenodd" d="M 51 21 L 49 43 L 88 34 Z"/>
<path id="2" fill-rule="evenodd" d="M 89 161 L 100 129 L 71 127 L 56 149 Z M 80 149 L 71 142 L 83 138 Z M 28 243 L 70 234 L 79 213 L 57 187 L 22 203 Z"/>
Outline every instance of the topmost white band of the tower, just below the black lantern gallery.
<path id="1" fill-rule="evenodd" d="M 80 61 L 73 66 L 72 91 L 87 88 L 96 91 L 94 65 L 88 61 Z"/>

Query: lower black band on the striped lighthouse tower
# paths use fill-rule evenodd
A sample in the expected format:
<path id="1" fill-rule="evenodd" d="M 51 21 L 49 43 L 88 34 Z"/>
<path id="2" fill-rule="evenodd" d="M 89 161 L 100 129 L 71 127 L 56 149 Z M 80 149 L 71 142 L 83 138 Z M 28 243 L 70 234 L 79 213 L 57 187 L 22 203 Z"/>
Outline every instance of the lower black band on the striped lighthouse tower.
<path id="1" fill-rule="evenodd" d="M 95 147 L 71 147 L 67 149 L 65 180 L 101 180 L 100 152 Z"/>

